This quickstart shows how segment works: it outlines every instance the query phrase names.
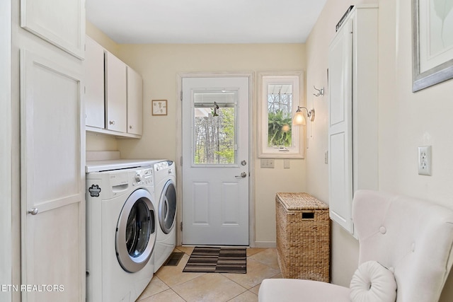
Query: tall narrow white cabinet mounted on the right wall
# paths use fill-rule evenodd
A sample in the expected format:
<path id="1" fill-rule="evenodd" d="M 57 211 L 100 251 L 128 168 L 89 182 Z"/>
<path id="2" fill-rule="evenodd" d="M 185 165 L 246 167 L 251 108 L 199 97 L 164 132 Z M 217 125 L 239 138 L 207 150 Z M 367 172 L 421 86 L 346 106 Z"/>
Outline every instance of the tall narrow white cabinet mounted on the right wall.
<path id="1" fill-rule="evenodd" d="M 329 47 L 329 211 L 352 234 L 354 192 L 378 189 L 377 21 L 377 6 L 355 6 Z"/>

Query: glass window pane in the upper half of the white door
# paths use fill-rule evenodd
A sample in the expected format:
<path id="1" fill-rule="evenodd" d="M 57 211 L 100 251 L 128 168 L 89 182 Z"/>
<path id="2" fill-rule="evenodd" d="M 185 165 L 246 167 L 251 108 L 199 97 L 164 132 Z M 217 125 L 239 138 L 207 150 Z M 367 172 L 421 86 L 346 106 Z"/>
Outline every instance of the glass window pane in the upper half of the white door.
<path id="1" fill-rule="evenodd" d="M 236 162 L 238 91 L 195 91 L 193 95 L 193 164 Z"/>

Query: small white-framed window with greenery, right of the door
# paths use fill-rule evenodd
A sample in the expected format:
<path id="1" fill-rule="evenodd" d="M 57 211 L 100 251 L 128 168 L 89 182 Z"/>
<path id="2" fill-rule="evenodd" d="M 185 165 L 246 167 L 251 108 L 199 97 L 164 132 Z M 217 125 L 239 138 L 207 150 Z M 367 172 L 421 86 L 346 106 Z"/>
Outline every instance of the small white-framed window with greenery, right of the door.
<path id="1" fill-rule="evenodd" d="M 258 95 L 259 157 L 303 158 L 304 127 L 293 126 L 292 117 L 302 105 L 302 71 L 260 74 Z"/>

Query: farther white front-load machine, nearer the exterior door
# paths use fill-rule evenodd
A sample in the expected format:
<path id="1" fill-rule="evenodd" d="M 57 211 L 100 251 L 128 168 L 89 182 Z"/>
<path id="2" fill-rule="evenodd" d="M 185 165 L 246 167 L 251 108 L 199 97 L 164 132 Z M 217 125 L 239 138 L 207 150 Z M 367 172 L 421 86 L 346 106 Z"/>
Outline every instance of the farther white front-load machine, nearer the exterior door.
<path id="1" fill-rule="evenodd" d="M 164 265 L 176 246 L 176 167 L 173 161 L 154 163 L 154 192 L 159 202 L 157 213 L 154 272 Z"/>

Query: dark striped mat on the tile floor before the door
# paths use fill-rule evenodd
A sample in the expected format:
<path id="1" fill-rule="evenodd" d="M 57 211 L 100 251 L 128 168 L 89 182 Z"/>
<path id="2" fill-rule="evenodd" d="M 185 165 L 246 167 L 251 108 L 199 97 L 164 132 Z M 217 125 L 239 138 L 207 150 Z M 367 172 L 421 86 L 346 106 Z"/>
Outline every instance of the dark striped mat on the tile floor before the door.
<path id="1" fill-rule="evenodd" d="M 246 274 L 246 248 L 195 247 L 183 272 Z"/>

